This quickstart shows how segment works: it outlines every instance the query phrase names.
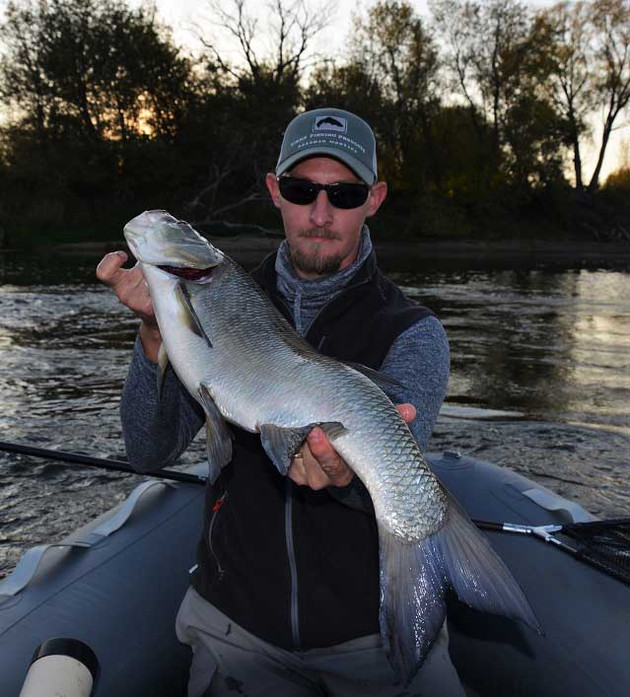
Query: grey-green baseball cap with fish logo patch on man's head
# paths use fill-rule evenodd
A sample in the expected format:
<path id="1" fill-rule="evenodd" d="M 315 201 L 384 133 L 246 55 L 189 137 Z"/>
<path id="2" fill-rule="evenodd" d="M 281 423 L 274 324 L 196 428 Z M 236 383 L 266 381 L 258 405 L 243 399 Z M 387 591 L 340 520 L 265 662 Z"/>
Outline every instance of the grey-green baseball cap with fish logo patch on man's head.
<path id="1" fill-rule="evenodd" d="M 313 109 L 287 126 L 276 165 L 280 176 L 309 157 L 343 162 L 370 186 L 377 179 L 376 140 L 369 125 L 343 109 Z"/>

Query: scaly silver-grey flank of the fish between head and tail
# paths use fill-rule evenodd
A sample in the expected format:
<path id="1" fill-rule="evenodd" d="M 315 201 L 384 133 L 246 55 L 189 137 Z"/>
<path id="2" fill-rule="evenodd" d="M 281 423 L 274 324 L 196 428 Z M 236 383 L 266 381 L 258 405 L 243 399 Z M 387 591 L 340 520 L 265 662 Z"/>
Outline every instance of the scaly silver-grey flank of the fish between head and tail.
<path id="1" fill-rule="evenodd" d="M 239 267 L 226 261 L 222 273 L 220 284 L 193 289 L 191 301 L 198 315 L 207 317 L 213 346 L 206 379 L 214 383 L 217 374 L 225 376 L 220 388 L 211 390 L 223 415 L 233 413 L 222 408 L 225 392 L 258 405 L 252 407 L 254 431 L 269 420 L 287 427 L 344 423 L 346 434 L 337 437 L 335 447 L 361 479 L 370 481 L 383 523 L 408 541 L 426 537 L 440 523 L 443 510 L 435 503 L 441 497 L 443 504 L 444 497 L 391 401 L 371 380 L 297 336 Z M 252 379 L 258 375 L 265 381 Z M 302 403 L 287 409 L 287 395 L 298 389 L 300 394 L 312 390 L 317 400 L 297 400 Z"/>

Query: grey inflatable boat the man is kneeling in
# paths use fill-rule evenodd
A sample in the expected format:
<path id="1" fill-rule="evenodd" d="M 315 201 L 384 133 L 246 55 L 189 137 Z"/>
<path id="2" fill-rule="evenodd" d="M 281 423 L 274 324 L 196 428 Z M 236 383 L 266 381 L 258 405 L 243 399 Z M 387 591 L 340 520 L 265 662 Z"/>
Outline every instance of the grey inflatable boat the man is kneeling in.
<path id="1" fill-rule="evenodd" d="M 510 470 L 457 453 L 429 461 L 473 519 L 514 529 L 593 519 Z M 174 619 L 195 563 L 203 493 L 198 484 L 147 479 L 60 543 L 24 555 L 0 582 L 2 697 L 19 694 L 33 652 L 52 637 L 93 649 L 96 697 L 185 697 L 190 656 Z M 450 651 L 470 694 L 630 695 L 630 587 L 535 535 L 485 534 L 545 634 L 450 603 Z"/>

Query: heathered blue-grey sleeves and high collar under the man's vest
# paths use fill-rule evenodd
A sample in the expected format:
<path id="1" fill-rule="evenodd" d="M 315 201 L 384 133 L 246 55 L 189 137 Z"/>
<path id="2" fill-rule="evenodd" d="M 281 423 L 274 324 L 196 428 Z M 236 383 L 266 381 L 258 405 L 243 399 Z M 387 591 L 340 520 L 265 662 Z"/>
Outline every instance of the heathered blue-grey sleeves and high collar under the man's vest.
<path id="1" fill-rule="evenodd" d="M 354 276 L 372 251 L 367 227 L 354 264 L 333 276 L 306 281 L 293 271 L 286 241 L 280 246 L 276 273 L 278 291 L 291 309 L 297 331 L 304 336 L 320 310 Z M 435 317 L 425 317 L 400 334 L 390 347 L 381 372 L 401 384 L 388 389 L 395 403 L 409 402 L 418 412 L 410 428 L 422 449 L 433 430 L 446 394 L 449 348 Z M 123 436 L 129 461 L 150 470 L 173 463 L 202 428 L 201 407 L 173 371 L 166 373 L 162 396 L 157 395 L 157 366 L 136 340 L 121 401 Z"/>

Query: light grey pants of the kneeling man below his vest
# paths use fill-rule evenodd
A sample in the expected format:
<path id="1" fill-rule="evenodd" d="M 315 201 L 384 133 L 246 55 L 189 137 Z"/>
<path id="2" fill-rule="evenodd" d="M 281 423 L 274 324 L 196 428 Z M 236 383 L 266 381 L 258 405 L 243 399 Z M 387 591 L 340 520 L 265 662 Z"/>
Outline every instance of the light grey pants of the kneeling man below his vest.
<path id="1" fill-rule="evenodd" d="M 293 653 L 250 634 L 193 588 L 176 629 L 193 650 L 188 697 L 465 697 L 446 626 L 406 689 L 396 684 L 377 634 Z"/>

